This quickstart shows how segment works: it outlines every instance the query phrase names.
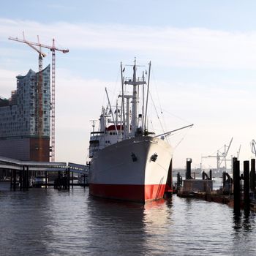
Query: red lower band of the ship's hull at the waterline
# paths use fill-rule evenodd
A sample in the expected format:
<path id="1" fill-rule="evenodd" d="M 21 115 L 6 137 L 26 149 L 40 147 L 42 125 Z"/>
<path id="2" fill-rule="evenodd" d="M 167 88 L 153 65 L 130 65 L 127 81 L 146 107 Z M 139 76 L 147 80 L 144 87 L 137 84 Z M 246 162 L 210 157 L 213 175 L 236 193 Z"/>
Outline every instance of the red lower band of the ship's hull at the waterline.
<path id="1" fill-rule="evenodd" d="M 90 184 L 90 194 L 118 200 L 128 200 L 145 203 L 164 196 L 165 185 L 118 185 L 118 184 Z"/>

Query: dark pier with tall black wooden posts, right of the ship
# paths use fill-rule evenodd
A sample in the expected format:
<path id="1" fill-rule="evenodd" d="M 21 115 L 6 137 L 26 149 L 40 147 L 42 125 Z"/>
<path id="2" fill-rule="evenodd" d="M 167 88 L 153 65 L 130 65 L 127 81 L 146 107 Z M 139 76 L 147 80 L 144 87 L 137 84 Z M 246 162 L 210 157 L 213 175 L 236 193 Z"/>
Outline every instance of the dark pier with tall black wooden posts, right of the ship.
<path id="1" fill-rule="evenodd" d="M 193 197 L 216 203 L 225 203 L 233 207 L 235 213 L 244 209 L 245 213 L 256 211 L 255 194 L 255 159 L 243 162 L 243 173 L 240 171 L 240 161 L 233 158 L 232 178 L 229 173 L 222 173 L 222 186 L 213 189 L 211 170 L 209 174 L 202 172 L 202 179 L 191 176 L 192 159 L 187 159 L 186 179 L 182 181 L 177 174 L 176 192 L 179 197 Z M 251 168 L 250 168 L 251 167 Z"/>

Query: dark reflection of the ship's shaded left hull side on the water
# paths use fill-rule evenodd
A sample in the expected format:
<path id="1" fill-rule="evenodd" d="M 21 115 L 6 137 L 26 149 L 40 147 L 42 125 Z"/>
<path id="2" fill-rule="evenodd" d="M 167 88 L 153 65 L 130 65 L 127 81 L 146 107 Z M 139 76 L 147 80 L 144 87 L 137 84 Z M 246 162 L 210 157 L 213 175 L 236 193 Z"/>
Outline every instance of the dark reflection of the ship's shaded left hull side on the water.
<path id="1" fill-rule="evenodd" d="M 89 252 L 143 255 L 146 240 L 143 205 L 89 197 L 87 213 Z"/>

